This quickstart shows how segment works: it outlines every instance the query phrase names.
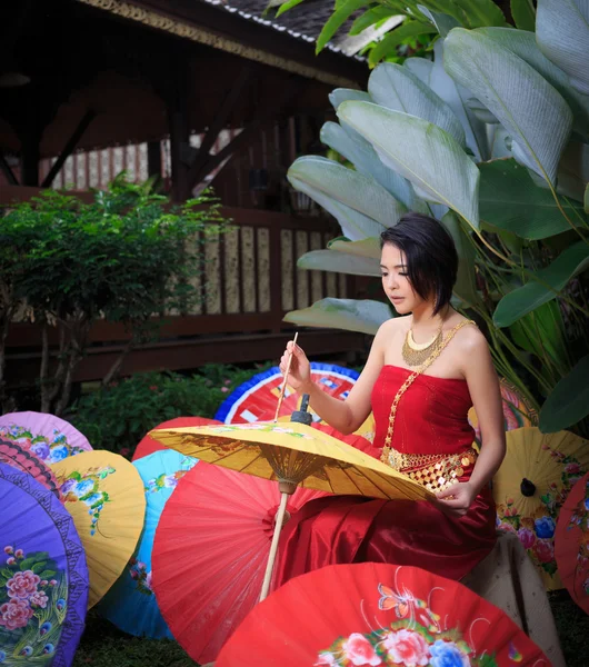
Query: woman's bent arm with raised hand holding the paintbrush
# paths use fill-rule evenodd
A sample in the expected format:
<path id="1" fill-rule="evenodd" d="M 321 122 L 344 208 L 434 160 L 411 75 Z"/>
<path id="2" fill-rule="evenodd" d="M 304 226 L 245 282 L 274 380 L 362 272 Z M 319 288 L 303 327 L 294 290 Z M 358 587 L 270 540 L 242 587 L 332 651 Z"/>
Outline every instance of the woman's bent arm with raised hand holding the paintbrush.
<path id="1" fill-rule="evenodd" d="M 289 341 L 282 355 L 280 360 L 282 374 L 286 372 L 290 355 L 293 355 L 288 384 L 299 394 L 308 394 L 310 405 L 319 417 L 345 435 L 360 428 L 370 415 L 370 395 L 385 362 L 385 344 L 390 337 L 390 332 L 387 332 L 390 330 L 391 322 L 393 320 L 385 322 L 379 328 L 368 361 L 345 400 L 329 396 L 311 380 L 309 360 L 299 346 Z"/>

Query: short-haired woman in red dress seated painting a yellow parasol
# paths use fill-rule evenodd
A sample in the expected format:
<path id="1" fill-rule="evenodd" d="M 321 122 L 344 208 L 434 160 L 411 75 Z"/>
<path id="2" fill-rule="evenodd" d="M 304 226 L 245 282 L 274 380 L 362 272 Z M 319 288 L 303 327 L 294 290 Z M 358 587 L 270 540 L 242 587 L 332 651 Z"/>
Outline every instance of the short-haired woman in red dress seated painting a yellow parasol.
<path id="1" fill-rule="evenodd" d="M 373 456 L 427 486 L 436 500 L 330 496 L 306 505 L 283 529 L 277 584 L 337 563 L 417 565 L 460 579 L 493 547 L 489 482 L 505 456 L 499 381 L 489 347 L 450 298 L 458 256 L 437 220 L 409 212 L 381 235 L 382 287 L 399 316 L 378 330 L 366 367 L 346 400 L 311 380 L 290 341 L 289 385 L 341 431 L 372 410 Z M 467 414 L 475 406 L 482 447 L 472 449 Z"/>

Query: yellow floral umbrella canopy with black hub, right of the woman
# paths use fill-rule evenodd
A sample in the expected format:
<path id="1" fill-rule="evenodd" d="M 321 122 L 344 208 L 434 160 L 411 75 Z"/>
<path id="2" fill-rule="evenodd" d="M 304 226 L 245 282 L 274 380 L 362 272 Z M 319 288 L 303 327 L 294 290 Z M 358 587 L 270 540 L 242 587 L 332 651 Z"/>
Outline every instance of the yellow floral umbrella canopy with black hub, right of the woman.
<path id="1" fill-rule="evenodd" d="M 508 431 L 507 455 L 493 479 L 498 527 L 518 534 L 549 590 L 562 588 L 555 529 L 570 489 L 589 470 L 588 445 L 568 431 Z"/>

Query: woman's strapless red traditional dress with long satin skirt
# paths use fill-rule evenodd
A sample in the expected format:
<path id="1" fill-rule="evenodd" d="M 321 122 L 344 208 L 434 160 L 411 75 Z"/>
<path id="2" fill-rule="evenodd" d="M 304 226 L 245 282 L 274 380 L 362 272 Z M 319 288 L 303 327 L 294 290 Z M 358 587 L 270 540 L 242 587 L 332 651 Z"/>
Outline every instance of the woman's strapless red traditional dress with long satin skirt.
<path id="1" fill-rule="evenodd" d="M 386 442 L 391 404 L 411 375 L 406 368 L 385 366 L 375 384 L 377 430 L 368 454 L 376 458 Z M 433 480 L 433 490 L 440 470 L 468 480 L 475 462 L 475 431 L 467 418 L 471 405 L 465 380 L 418 375 L 398 402 L 389 461 L 426 485 Z M 489 487 L 460 518 L 429 501 L 319 498 L 284 526 L 276 584 L 326 565 L 365 561 L 413 565 L 460 579 L 492 549 L 495 521 Z"/>

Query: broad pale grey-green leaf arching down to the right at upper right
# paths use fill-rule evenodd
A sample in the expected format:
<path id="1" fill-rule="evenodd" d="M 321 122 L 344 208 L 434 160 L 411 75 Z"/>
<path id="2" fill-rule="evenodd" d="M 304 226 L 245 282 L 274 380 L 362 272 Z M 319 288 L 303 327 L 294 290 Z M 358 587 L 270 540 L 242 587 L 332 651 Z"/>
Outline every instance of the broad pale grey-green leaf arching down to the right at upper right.
<path id="1" fill-rule="evenodd" d="M 443 66 L 510 132 L 513 155 L 555 183 L 572 113 L 560 93 L 521 58 L 479 31 L 455 28 Z M 519 151 L 516 151 L 519 149 Z"/>

